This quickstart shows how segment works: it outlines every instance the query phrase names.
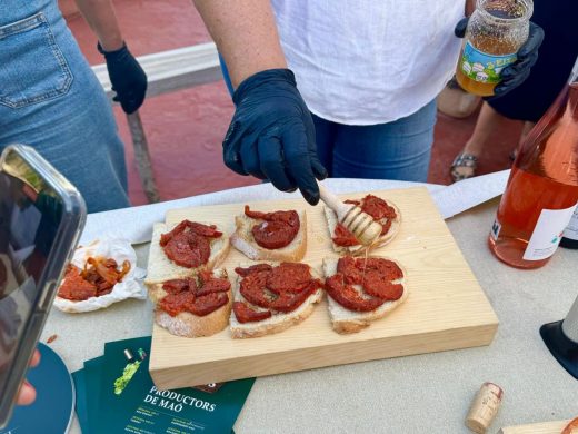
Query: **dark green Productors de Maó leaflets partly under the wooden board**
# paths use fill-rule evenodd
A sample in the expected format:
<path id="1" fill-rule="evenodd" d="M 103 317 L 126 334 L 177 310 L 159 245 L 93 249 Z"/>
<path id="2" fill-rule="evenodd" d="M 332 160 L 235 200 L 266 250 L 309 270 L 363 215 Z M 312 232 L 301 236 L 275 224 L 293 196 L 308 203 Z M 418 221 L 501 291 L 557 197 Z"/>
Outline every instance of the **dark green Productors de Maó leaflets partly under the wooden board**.
<path id="1" fill-rule="evenodd" d="M 83 434 L 231 433 L 255 378 L 159 391 L 149 375 L 150 337 L 109 342 L 72 373 Z"/>

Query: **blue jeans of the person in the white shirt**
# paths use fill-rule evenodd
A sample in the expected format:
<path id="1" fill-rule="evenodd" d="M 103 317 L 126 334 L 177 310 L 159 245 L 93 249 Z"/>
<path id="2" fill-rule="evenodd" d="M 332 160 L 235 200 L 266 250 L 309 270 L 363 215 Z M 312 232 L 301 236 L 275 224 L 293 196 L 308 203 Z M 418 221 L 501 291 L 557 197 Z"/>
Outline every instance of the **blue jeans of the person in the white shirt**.
<path id="1" fill-rule="evenodd" d="M 221 57 L 225 83 L 233 89 Z M 311 114 L 317 154 L 332 178 L 428 179 L 436 100 L 405 118 L 370 126 L 343 125 Z"/>

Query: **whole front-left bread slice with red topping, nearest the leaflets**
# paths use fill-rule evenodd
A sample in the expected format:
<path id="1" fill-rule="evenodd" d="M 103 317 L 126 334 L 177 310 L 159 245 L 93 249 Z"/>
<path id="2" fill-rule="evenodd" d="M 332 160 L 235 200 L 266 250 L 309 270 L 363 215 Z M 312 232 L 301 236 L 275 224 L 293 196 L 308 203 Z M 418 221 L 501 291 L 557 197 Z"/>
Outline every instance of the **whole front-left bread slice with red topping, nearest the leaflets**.
<path id="1" fill-rule="evenodd" d="M 155 320 L 173 335 L 210 336 L 229 324 L 231 283 L 222 268 L 167 280 L 156 297 Z"/>

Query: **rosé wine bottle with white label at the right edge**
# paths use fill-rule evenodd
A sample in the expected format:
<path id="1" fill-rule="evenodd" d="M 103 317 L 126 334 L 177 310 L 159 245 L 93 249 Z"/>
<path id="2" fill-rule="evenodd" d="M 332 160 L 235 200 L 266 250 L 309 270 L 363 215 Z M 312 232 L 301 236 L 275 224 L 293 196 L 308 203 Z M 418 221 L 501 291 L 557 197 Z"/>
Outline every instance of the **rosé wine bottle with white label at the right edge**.
<path id="1" fill-rule="evenodd" d="M 578 204 L 578 59 L 568 85 L 536 124 L 514 162 L 488 239 L 518 268 L 544 266 Z"/>

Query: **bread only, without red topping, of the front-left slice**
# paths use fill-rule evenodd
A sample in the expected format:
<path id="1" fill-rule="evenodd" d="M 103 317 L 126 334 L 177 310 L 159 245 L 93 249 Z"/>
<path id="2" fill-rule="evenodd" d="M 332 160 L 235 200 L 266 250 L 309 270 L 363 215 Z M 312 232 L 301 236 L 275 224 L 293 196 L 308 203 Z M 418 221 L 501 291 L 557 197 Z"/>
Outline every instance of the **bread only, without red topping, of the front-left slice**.
<path id="1" fill-rule="evenodd" d="M 228 277 L 223 268 L 213 269 L 215 277 Z M 162 284 L 157 284 L 159 290 L 156 292 L 158 303 L 167 295 L 162 289 Z M 165 310 L 157 308 L 155 310 L 155 322 L 169 331 L 169 333 L 183 337 L 211 336 L 222 331 L 229 324 L 232 306 L 232 289 L 227 293 L 229 303 L 211 312 L 209 315 L 198 316 L 190 312 L 181 312 L 177 316 L 170 316 Z"/>

